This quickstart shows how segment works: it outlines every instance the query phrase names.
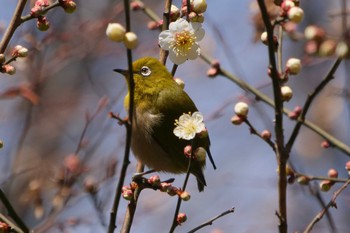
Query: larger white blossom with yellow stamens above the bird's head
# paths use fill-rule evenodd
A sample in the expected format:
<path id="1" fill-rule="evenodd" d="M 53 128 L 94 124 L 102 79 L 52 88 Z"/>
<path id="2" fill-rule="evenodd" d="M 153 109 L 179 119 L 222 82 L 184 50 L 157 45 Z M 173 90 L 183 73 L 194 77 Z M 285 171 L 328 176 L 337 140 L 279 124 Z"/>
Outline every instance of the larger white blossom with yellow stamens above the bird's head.
<path id="1" fill-rule="evenodd" d="M 200 55 L 198 41 L 204 37 L 201 23 L 187 22 L 180 18 L 170 23 L 169 30 L 159 34 L 159 45 L 169 51 L 170 60 L 180 65 L 187 59 L 194 60 Z"/>

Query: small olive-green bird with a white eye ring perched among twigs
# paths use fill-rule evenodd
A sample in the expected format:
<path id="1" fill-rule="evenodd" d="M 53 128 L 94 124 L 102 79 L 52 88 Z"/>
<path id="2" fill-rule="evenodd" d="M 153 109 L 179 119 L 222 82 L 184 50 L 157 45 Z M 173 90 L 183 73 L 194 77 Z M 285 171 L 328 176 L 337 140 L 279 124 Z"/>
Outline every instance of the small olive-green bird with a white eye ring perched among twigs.
<path id="1" fill-rule="evenodd" d="M 115 69 L 128 80 L 127 70 Z M 185 173 L 189 159 L 184 148 L 191 142 L 174 134 L 175 120 L 184 113 L 198 111 L 192 99 L 173 80 L 167 68 L 152 57 L 144 57 L 133 63 L 134 113 L 131 149 L 137 159 L 150 169 L 169 173 Z M 129 83 L 129 82 L 128 82 Z M 128 88 L 130 91 L 130 87 Z M 124 106 L 129 108 L 129 92 Z M 214 169 L 208 134 L 195 137 L 192 150 L 204 148 Z M 204 150 L 202 150 L 204 151 Z M 194 159 L 191 174 L 197 178 L 198 190 L 203 191 L 206 181 L 203 174 L 205 159 Z"/>

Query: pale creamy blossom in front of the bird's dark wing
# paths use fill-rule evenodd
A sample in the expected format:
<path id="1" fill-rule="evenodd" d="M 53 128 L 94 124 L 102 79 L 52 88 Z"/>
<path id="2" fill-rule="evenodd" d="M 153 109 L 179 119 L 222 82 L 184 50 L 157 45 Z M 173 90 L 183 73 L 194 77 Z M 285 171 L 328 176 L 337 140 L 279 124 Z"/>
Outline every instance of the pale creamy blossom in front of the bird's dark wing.
<path id="1" fill-rule="evenodd" d="M 175 120 L 174 134 L 180 139 L 191 140 L 197 133 L 205 130 L 203 115 L 200 112 L 184 113 Z"/>

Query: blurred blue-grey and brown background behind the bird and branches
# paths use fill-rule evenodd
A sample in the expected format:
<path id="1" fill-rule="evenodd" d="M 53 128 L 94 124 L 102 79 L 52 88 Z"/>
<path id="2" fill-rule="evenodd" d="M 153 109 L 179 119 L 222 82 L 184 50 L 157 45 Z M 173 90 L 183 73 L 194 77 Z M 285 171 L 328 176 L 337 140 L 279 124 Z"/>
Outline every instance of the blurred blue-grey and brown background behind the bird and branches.
<path id="1" fill-rule="evenodd" d="M 344 0 L 346 1 L 346 0 Z M 0 35 L 3 36 L 16 1 L 0 0 Z M 29 56 L 13 65 L 13 76 L 0 74 L 0 187 L 35 232 L 106 232 L 115 187 L 124 153 L 125 128 L 109 117 L 109 112 L 126 116 L 123 97 L 125 80 L 112 70 L 126 68 L 123 44 L 108 40 L 109 22 L 125 24 L 122 1 L 77 0 L 77 10 L 68 15 L 61 8 L 47 14 L 50 29 L 36 29 L 35 20 L 26 22 L 15 33 L 6 55 L 20 44 Z M 159 16 L 163 1 L 145 0 Z M 207 1 L 206 36 L 200 45 L 203 53 L 220 61 L 240 79 L 272 97 L 267 75 L 267 47 L 256 38 L 255 1 Z M 173 1 L 181 6 L 181 1 Z M 27 4 L 25 13 L 34 5 Z M 322 27 L 327 38 L 336 43 L 342 37 L 342 1 L 302 1 L 303 22 L 291 35 L 302 35 L 310 24 Z M 147 28 L 149 18 L 142 11 L 131 12 L 131 28 L 139 38 L 133 59 L 158 57 L 158 31 Z M 349 17 L 348 17 L 349 18 Z M 302 106 L 305 98 L 325 77 L 335 56 L 310 56 L 306 41 L 285 36 L 283 61 L 300 58 L 303 70 L 291 76 L 288 85 L 294 98 L 286 107 Z M 171 69 L 171 62 L 168 62 Z M 234 126 L 230 119 L 233 106 L 243 100 L 250 105 L 249 119 L 260 131 L 273 132 L 273 109 L 257 102 L 253 95 L 232 81 L 217 76 L 208 78 L 210 67 L 201 59 L 179 66 L 176 77 L 185 81 L 185 90 L 206 118 L 217 170 L 208 166 L 208 187 L 198 193 L 190 178 L 191 200 L 181 212 L 188 220 L 177 228 L 187 232 L 221 212 L 229 214 L 198 232 L 277 232 L 278 209 L 276 159 L 270 147 L 250 134 L 246 125 Z M 349 145 L 349 62 L 344 60 L 335 79 L 316 98 L 307 118 Z M 285 117 L 288 139 L 294 122 Z M 297 171 L 327 176 L 330 168 L 347 178 L 344 169 L 349 157 L 337 149 L 324 149 L 324 140 L 302 127 L 291 153 Z M 75 156 L 78 155 L 78 156 Z M 69 173 L 67 174 L 67 169 Z M 136 169 L 131 157 L 127 185 Z M 181 186 L 184 175 L 160 174 L 162 180 L 175 177 Z M 320 193 L 328 203 L 341 184 Z M 309 188 L 311 187 L 311 188 Z M 289 231 L 303 231 L 323 208 L 315 193 L 318 182 L 310 186 L 288 186 Z M 312 191 L 310 191 L 312 190 Z M 159 191 L 144 190 L 139 199 L 132 232 L 168 232 L 175 211 L 176 198 Z M 118 229 L 124 219 L 127 201 L 121 200 Z M 329 211 L 314 232 L 348 232 L 350 191 L 337 199 L 338 209 Z M 2 206 L 2 205 L 0 205 Z M 1 211 L 4 213 L 4 210 Z M 333 225 L 333 227 L 332 227 Z"/>

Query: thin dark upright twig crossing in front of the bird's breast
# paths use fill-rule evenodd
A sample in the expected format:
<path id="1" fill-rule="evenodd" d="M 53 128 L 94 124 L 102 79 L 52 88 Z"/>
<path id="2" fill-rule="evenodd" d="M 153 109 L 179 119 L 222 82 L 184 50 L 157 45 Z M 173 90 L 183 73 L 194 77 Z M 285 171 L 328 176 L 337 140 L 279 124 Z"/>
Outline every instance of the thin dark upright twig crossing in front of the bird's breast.
<path id="1" fill-rule="evenodd" d="M 130 4 L 128 0 L 124 0 L 124 9 L 125 9 L 125 21 L 126 21 L 126 31 L 130 30 Z M 108 233 L 113 233 L 114 229 L 116 228 L 116 219 L 117 219 L 117 211 L 119 208 L 119 202 L 120 202 L 120 196 L 122 193 L 122 187 L 124 184 L 126 171 L 129 166 L 130 160 L 130 147 L 131 147 L 131 134 L 132 134 L 132 123 L 133 123 L 133 113 L 134 113 L 134 76 L 133 76 L 133 69 L 132 69 L 132 52 L 130 49 L 127 49 L 127 60 L 128 60 L 128 70 L 129 70 L 129 77 L 128 77 L 128 86 L 129 86 L 129 124 L 125 124 L 126 127 L 126 143 L 125 143 L 125 150 L 124 150 L 124 159 L 123 159 L 123 165 L 122 169 L 120 171 L 119 181 L 118 185 L 116 187 L 115 191 L 115 197 L 113 202 L 113 207 L 110 213 L 110 221 L 108 226 Z"/>

